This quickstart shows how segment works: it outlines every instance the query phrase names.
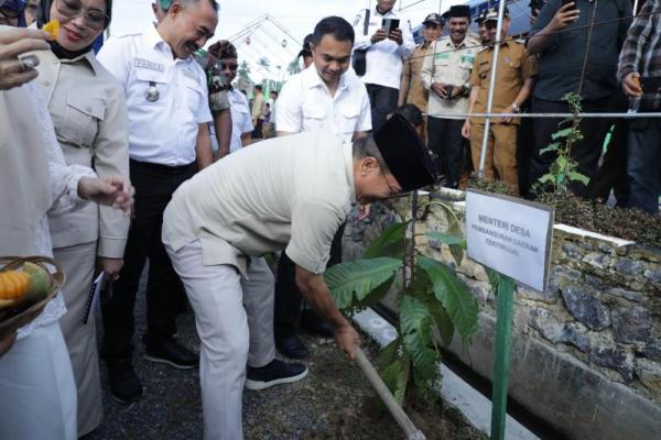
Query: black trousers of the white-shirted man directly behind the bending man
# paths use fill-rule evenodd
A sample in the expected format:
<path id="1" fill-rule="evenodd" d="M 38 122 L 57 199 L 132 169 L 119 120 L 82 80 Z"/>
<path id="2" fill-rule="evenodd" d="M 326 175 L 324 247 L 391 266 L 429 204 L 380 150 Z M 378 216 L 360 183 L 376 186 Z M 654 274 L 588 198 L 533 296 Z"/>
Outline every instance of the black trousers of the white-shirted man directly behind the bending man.
<path id="1" fill-rule="evenodd" d="M 342 238 L 346 223 L 343 223 L 330 243 L 330 258 L 326 267 L 342 263 Z M 283 251 L 278 262 L 275 279 L 275 305 L 273 315 L 273 331 L 275 338 L 285 338 L 295 333 L 301 316 L 303 297 L 296 286 L 296 264 Z M 321 318 L 319 318 L 321 319 Z"/>

